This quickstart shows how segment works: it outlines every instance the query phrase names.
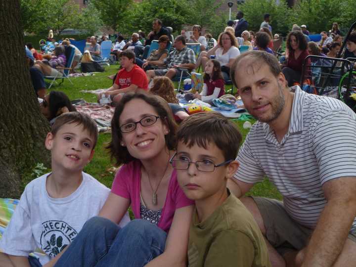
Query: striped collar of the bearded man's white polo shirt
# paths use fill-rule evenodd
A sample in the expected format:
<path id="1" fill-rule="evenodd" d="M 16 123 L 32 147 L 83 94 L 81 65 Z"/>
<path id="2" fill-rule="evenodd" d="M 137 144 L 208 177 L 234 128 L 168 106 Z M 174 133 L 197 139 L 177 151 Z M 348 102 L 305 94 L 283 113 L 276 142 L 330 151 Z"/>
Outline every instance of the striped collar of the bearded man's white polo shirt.
<path id="1" fill-rule="evenodd" d="M 293 98 L 292 112 L 290 116 L 288 132 L 286 133 L 286 135 L 299 133 L 304 130 L 303 106 L 307 93 L 303 91 L 299 86 L 294 86 L 292 87 L 292 90 L 293 89 L 295 89 L 295 93 Z M 271 135 L 274 134 L 273 129 L 271 129 L 267 123 L 263 124 L 263 129 L 265 132 L 265 138 L 270 139 Z"/>

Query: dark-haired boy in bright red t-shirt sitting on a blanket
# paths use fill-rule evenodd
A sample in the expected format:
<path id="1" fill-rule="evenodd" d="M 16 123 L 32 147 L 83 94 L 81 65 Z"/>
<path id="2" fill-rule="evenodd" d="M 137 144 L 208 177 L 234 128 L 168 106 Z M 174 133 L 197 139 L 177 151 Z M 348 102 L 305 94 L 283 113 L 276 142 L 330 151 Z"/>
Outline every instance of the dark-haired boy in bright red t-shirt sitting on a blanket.
<path id="1" fill-rule="evenodd" d="M 120 59 L 122 69 L 117 73 L 113 86 L 104 92 L 106 96 L 110 95 L 113 102 L 116 103 L 126 92 L 148 89 L 146 74 L 135 64 L 134 52 L 125 50 L 120 54 Z M 102 94 L 98 94 L 98 100 L 102 97 Z"/>

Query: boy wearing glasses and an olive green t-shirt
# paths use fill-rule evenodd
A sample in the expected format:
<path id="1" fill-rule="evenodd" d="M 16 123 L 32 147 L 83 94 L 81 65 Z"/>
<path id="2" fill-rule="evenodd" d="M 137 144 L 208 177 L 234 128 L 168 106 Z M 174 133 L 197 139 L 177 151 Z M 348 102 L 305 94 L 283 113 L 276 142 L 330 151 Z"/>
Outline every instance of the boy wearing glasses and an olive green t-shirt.
<path id="1" fill-rule="evenodd" d="M 226 188 L 238 168 L 241 134 L 217 112 L 186 118 L 171 159 L 178 183 L 196 209 L 189 230 L 190 267 L 270 267 L 264 237 L 245 206 Z"/>

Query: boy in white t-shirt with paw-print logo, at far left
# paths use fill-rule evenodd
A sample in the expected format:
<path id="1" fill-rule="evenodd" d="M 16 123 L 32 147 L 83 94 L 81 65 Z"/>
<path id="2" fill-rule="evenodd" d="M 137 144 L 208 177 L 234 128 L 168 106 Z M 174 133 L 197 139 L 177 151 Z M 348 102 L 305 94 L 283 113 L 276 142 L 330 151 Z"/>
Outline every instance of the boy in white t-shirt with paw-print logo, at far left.
<path id="1" fill-rule="evenodd" d="M 96 141 L 97 127 L 88 115 L 69 112 L 57 118 L 45 139 L 52 172 L 26 186 L 0 240 L 0 267 L 45 265 L 99 213 L 110 190 L 83 172 Z M 129 221 L 126 215 L 120 224 Z M 38 248 L 45 255 L 28 256 Z"/>

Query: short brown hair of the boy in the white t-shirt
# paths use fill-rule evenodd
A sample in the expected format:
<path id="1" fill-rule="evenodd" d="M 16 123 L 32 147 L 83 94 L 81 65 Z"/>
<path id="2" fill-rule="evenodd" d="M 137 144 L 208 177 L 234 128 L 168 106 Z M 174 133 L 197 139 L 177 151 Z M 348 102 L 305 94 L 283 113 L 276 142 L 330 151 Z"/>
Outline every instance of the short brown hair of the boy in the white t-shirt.
<path id="1" fill-rule="evenodd" d="M 89 115 L 80 113 L 77 111 L 66 112 L 58 116 L 52 125 L 51 133 L 56 135 L 59 129 L 65 124 L 75 123 L 76 125 L 82 125 L 84 130 L 87 130 L 90 136 L 93 137 L 93 146 L 92 149 L 95 148 L 97 138 L 98 138 L 98 130 L 96 123 L 89 117 Z M 91 149 L 91 150 L 92 150 Z"/>

